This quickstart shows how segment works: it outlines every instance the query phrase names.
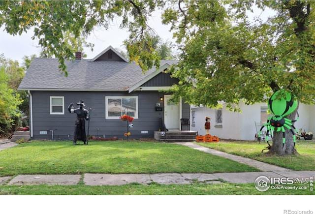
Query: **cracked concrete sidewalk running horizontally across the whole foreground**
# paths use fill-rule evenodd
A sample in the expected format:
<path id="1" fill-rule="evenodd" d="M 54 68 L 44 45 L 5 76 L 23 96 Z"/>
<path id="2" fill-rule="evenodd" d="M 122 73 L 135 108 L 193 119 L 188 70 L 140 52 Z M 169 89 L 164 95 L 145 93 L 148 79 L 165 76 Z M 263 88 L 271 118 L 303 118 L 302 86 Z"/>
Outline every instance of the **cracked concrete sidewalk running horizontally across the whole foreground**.
<path id="1" fill-rule="evenodd" d="M 123 185 L 128 183 L 190 184 L 202 183 L 254 183 L 259 176 L 269 178 L 292 177 L 299 179 L 315 176 L 315 171 L 277 171 L 277 172 L 241 172 L 241 173 L 158 173 L 158 174 L 84 174 L 86 185 Z M 0 177 L 0 185 L 37 185 L 59 184 L 75 185 L 82 181 L 81 175 L 18 175 Z"/>

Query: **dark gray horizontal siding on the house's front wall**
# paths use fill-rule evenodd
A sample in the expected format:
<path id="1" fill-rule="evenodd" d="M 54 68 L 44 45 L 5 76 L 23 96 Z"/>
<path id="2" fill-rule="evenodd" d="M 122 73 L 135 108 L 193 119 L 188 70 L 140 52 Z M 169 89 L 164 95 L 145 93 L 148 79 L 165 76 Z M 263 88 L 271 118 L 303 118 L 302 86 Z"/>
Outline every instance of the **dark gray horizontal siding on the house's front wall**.
<path id="1" fill-rule="evenodd" d="M 33 139 L 51 139 L 51 132 L 54 131 L 54 139 L 73 138 L 74 120 L 76 114 L 67 111 L 69 103 L 76 103 L 83 99 L 86 109 L 92 108 L 90 135 L 105 137 L 124 138 L 126 122 L 119 119 L 105 119 L 105 96 L 138 96 L 138 119 L 132 123 L 130 128 L 131 138 L 153 138 L 154 131 L 158 130 L 159 118 L 164 117 L 163 111 L 155 111 L 157 102 L 163 106 L 159 97 L 161 92 L 63 92 L 63 91 L 31 91 L 33 110 Z M 64 115 L 50 115 L 50 96 L 64 96 Z M 76 105 L 75 105 L 76 106 Z M 190 118 L 190 106 L 182 102 L 182 118 Z M 86 122 L 86 131 L 88 122 Z M 97 130 L 98 129 L 98 130 Z M 48 131 L 47 134 L 40 134 L 40 131 Z M 141 131 L 148 131 L 148 134 L 141 134 Z"/>

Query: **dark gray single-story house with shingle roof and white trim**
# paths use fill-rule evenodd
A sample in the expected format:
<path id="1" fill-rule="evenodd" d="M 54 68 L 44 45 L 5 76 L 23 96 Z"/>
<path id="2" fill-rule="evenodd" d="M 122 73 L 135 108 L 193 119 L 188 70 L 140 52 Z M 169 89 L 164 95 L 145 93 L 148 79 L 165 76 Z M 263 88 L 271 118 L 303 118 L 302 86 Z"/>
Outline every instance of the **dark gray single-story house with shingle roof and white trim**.
<path id="1" fill-rule="evenodd" d="M 153 138 L 162 119 L 168 129 L 180 130 L 180 119 L 190 117 L 190 106 L 174 103 L 160 92 L 178 80 L 164 71 L 177 61 L 161 61 L 159 68 L 145 74 L 111 46 L 92 60 L 66 61 L 68 76 L 58 68 L 57 59 L 32 61 L 19 90 L 30 96 L 30 134 L 32 139 L 72 139 L 75 114 L 67 111 L 71 102 L 83 99 L 92 108 L 90 135 L 124 138 L 126 122 L 134 117 L 131 138 Z M 160 105 L 162 111 L 157 111 Z M 53 135 L 53 136 L 52 136 Z"/>

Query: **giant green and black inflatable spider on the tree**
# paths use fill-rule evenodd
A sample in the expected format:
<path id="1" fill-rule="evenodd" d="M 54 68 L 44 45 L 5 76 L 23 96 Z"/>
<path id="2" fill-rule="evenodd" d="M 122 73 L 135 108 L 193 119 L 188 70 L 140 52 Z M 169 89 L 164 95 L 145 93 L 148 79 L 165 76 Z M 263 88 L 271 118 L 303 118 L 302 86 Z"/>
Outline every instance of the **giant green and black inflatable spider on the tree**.
<path id="1" fill-rule="evenodd" d="M 282 131 L 283 133 L 283 147 L 285 144 L 285 129 L 288 129 L 293 134 L 293 142 L 295 147 L 296 142 L 296 136 L 295 131 L 296 128 L 293 125 L 293 122 L 298 121 L 299 119 L 299 113 L 297 113 L 297 119 L 296 120 L 289 120 L 287 118 L 284 118 L 285 116 L 291 114 L 295 111 L 297 108 L 298 101 L 297 99 L 288 91 L 285 90 L 279 90 L 277 92 L 274 92 L 272 96 L 269 98 L 268 101 L 268 108 L 272 112 L 273 116 L 269 117 L 267 122 L 263 124 L 258 132 L 258 138 L 260 139 L 261 131 L 266 126 L 267 132 L 266 132 L 266 141 L 269 147 L 271 148 L 269 142 L 268 142 L 268 136 L 269 132 L 273 131 Z"/>

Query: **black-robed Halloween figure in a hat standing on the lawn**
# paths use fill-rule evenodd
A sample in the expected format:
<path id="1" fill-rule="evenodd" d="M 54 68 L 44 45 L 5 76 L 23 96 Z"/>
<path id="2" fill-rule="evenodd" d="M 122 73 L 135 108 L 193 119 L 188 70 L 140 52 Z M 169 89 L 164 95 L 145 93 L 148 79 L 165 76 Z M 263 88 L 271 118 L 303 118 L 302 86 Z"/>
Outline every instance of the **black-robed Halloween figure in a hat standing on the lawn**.
<path id="1" fill-rule="evenodd" d="M 74 108 L 73 103 L 71 102 L 70 105 L 68 106 L 68 111 L 69 113 L 76 113 L 77 114 L 77 119 L 75 120 L 74 123 L 74 137 L 73 137 L 73 145 L 77 144 L 77 140 L 81 140 L 84 142 L 84 144 L 88 144 L 88 139 L 87 135 L 85 132 L 85 121 L 89 121 L 89 126 L 90 126 L 90 118 L 89 118 L 89 111 L 85 108 L 84 101 L 80 100 L 79 102 L 76 103 L 79 108 Z M 91 113 L 90 113 L 91 114 Z M 89 135 L 89 129 L 88 127 L 88 135 Z"/>

